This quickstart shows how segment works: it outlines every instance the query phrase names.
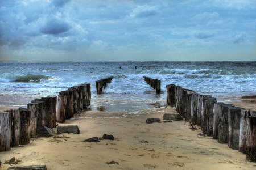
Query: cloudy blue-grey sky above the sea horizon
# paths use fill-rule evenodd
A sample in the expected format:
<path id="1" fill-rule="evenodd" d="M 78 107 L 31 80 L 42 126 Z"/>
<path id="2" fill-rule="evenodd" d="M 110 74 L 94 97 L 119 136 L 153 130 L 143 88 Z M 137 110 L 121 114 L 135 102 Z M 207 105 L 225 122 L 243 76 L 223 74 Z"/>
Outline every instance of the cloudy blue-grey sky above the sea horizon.
<path id="1" fill-rule="evenodd" d="M 256 1 L 0 0 L 0 61 L 256 60 Z"/>

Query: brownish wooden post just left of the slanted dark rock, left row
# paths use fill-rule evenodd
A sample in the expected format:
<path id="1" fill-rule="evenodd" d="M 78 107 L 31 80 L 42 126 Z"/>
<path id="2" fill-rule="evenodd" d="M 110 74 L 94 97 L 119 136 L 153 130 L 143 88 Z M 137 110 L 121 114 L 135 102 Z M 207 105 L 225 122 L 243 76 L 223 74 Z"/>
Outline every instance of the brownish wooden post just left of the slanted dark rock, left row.
<path id="1" fill-rule="evenodd" d="M 30 138 L 36 138 L 36 131 L 38 130 L 38 103 L 28 103 L 27 108 L 30 109 Z"/>

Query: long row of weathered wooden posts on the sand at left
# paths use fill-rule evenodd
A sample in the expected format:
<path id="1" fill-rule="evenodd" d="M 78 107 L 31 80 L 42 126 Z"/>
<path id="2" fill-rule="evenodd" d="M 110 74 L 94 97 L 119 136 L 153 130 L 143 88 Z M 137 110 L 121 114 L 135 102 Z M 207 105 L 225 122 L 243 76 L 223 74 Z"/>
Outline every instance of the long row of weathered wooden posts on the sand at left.
<path id="1" fill-rule="evenodd" d="M 58 96 L 35 99 L 27 108 L 0 113 L 0 151 L 30 143 L 40 126 L 56 128 L 57 122 L 64 123 L 87 108 L 90 100 L 90 84 L 82 84 L 61 91 Z"/>

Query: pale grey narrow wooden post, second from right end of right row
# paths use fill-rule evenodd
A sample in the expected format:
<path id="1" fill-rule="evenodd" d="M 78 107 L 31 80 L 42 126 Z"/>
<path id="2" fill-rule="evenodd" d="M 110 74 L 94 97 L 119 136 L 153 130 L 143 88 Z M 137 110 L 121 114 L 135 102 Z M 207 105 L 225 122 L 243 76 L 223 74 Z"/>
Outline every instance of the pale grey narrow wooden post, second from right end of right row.
<path id="1" fill-rule="evenodd" d="M 239 148 L 238 151 L 246 154 L 246 132 L 247 132 L 247 116 L 256 116 L 250 110 L 241 111 L 240 133 L 239 133 Z"/>

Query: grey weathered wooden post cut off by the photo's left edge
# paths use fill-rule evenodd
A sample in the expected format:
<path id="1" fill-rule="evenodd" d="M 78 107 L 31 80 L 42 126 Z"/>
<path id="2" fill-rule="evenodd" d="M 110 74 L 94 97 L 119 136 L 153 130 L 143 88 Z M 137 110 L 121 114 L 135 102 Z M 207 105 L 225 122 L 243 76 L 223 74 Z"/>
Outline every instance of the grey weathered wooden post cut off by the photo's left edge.
<path id="1" fill-rule="evenodd" d="M 0 113 L 0 152 L 11 150 L 9 112 Z"/>

